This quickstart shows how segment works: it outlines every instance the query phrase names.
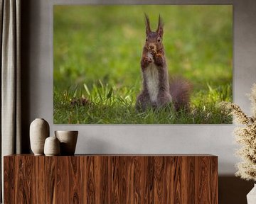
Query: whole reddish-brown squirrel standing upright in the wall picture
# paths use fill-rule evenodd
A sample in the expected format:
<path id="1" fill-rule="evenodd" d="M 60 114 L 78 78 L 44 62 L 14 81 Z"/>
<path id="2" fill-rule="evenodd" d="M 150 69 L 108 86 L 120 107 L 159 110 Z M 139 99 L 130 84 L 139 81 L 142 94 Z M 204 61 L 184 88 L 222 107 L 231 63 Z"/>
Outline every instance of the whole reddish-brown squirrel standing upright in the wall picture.
<path id="1" fill-rule="evenodd" d="M 146 108 L 171 106 L 176 110 L 188 110 L 191 84 L 185 79 L 176 78 L 170 81 L 166 57 L 164 54 L 164 23 L 159 15 L 156 31 L 151 31 L 149 17 L 145 13 L 146 42 L 142 52 L 141 69 L 143 89 L 137 96 L 137 111 Z"/>

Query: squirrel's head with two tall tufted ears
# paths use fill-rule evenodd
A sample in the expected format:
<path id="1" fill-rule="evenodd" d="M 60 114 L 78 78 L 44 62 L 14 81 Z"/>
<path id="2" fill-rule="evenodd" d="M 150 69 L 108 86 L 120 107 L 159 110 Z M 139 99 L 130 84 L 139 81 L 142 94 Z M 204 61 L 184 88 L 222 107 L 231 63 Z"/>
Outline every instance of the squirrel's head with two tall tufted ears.
<path id="1" fill-rule="evenodd" d="M 164 34 L 164 24 L 159 16 L 159 24 L 156 31 L 151 31 L 149 24 L 149 17 L 145 14 L 145 23 L 146 23 L 146 42 L 145 47 L 147 50 L 154 50 L 155 52 L 161 50 L 164 46 L 162 43 L 163 34 Z"/>

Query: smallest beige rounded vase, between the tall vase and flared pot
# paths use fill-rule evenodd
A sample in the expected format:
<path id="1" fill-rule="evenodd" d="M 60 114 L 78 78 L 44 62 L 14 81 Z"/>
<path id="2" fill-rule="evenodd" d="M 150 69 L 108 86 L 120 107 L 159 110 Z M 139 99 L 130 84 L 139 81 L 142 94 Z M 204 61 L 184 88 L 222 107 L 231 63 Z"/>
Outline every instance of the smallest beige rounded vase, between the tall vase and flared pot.
<path id="1" fill-rule="evenodd" d="M 46 154 L 46 156 L 60 155 L 60 141 L 57 137 L 53 136 L 46 138 L 44 154 Z"/>

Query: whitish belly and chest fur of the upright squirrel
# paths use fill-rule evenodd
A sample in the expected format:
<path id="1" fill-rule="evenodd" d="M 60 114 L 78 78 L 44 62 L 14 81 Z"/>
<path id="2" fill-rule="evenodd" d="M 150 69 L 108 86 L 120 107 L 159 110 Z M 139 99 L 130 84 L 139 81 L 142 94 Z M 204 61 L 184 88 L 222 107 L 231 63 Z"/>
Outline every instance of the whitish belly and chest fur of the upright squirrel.
<path id="1" fill-rule="evenodd" d="M 154 62 L 150 63 L 149 67 L 146 67 L 145 77 L 146 77 L 146 88 L 149 91 L 150 100 L 152 102 L 156 102 L 157 96 L 159 94 L 159 72 Z"/>

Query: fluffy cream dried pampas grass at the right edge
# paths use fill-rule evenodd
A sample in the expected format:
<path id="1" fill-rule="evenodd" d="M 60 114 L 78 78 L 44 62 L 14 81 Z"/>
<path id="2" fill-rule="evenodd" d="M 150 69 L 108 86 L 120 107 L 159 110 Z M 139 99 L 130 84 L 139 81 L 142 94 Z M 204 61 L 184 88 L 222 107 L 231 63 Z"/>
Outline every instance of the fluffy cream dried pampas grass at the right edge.
<path id="1" fill-rule="evenodd" d="M 251 93 L 248 94 L 251 101 L 252 117 L 242 112 L 235 103 L 222 102 L 223 111 L 229 112 L 235 117 L 238 127 L 235 128 L 235 140 L 240 145 L 236 154 L 243 159 L 236 165 L 236 176 L 245 180 L 256 181 L 256 84 L 253 84 Z"/>

